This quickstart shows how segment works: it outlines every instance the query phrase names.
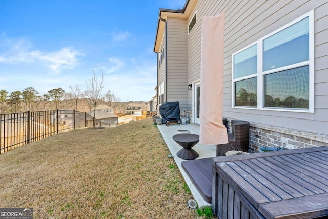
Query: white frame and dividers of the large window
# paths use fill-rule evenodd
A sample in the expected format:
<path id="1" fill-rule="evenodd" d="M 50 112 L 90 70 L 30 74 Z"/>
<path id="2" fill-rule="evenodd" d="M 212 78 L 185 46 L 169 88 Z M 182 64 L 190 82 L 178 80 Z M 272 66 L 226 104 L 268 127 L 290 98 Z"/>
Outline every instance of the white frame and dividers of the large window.
<path id="1" fill-rule="evenodd" d="M 263 40 L 278 33 L 279 31 L 292 26 L 293 24 L 301 21 L 302 19 L 309 17 L 309 61 L 284 66 L 281 68 L 263 71 Z M 238 79 L 234 79 L 234 55 L 239 52 L 248 49 L 251 46 L 257 44 L 257 74 L 248 75 L 245 77 L 240 77 Z M 297 68 L 301 66 L 309 65 L 309 109 L 308 110 L 297 110 L 297 109 L 289 109 L 289 108 L 264 108 L 263 107 L 263 98 L 264 98 L 264 87 L 263 87 L 263 75 L 270 74 L 273 72 L 279 72 L 286 69 Z M 235 86 L 234 83 L 237 81 L 241 81 L 243 79 L 257 77 L 257 107 L 240 107 L 235 106 Z M 268 35 L 263 36 L 258 39 L 256 42 L 244 47 L 237 52 L 232 54 L 232 103 L 231 106 L 234 109 L 256 109 L 256 110 L 267 110 L 267 111 L 284 111 L 284 112 L 305 112 L 305 113 L 314 113 L 314 12 L 311 10 L 310 12 L 294 19 L 294 21 L 282 26 L 281 28 L 271 32 Z"/>

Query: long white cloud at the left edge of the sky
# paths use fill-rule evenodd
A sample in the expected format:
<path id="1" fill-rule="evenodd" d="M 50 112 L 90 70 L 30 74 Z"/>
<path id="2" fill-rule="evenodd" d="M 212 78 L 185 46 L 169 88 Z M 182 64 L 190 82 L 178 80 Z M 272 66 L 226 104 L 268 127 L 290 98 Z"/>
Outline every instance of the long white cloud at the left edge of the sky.
<path id="1" fill-rule="evenodd" d="M 0 38 L 1 40 L 1 38 Z M 44 65 L 56 73 L 63 69 L 73 69 L 78 65 L 78 58 L 85 56 L 73 47 L 64 47 L 58 51 L 42 52 L 33 50 L 33 45 L 26 39 L 14 41 L 5 39 L 0 44 L 0 63 L 36 63 Z"/>

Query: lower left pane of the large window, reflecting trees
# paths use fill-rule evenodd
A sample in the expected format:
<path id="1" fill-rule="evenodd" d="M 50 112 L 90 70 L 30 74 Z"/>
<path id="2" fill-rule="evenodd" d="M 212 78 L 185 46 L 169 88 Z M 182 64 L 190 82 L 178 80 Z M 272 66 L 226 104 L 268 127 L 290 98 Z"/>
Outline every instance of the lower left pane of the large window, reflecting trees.
<path id="1" fill-rule="evenodd" d="M 235 106 L 257 106 L 257 77 L 235 82 Z"/>

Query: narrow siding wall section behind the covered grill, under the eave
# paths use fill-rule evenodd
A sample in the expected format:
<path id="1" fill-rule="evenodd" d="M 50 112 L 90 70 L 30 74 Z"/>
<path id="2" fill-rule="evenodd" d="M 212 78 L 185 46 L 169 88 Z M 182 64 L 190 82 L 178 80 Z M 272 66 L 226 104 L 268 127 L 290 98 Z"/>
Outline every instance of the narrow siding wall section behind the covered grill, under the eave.
<path id="1" fill-rule="evenodd" d="M 167 101 L 178 101 L 180 110 L 187 110 L 187 19 L 168 18 L 167 28 Z"/>

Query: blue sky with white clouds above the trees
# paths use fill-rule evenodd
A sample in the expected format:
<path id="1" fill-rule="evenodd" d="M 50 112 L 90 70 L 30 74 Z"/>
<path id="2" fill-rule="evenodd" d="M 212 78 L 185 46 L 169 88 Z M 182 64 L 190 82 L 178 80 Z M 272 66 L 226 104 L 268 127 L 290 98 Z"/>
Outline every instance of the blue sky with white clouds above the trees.
<path id="1" fill-rule="evenodd" d="M 149 101 L 157 84 L 153 52 L 159 8 L 186 0 L 1 0 L 0 90 L 40 94 L 104 72 L 104 92 Z"/>

